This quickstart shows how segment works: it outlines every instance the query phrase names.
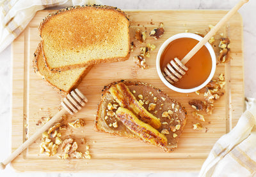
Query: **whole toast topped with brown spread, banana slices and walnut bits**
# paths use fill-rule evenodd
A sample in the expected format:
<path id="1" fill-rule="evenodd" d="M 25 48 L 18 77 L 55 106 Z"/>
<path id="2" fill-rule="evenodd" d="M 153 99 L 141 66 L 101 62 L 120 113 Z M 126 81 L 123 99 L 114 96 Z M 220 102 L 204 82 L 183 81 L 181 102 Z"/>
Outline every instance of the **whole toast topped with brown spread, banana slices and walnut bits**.
<path id="1" fill-rule="evenodd" d="M 95 128 L 172 152 L 186 120 L 186 110 L 163 91 L 147 83 L 122 80 L 102 90 Z"/>

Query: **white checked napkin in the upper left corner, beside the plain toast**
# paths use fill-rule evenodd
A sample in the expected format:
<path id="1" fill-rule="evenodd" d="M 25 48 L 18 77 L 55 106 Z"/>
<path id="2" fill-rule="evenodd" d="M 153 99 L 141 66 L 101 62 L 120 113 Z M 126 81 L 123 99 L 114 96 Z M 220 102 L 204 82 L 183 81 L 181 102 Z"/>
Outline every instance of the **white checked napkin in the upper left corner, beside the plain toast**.
<path id="1" fill-rule="evenodd" d="M 59 6 L 82 6 L 100 4 L 95 0 L 0 0 L 0 53 L 19 36 L 36 11 Z"/>

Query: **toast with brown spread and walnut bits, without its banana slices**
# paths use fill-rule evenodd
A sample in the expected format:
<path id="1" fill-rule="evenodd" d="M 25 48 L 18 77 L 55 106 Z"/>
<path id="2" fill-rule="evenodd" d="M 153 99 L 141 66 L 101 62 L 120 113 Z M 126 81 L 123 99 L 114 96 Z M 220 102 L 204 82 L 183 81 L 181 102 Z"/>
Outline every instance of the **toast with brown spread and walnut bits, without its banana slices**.
<path id="1" fill-rule="evenodd" d="M 164 94 L 163 91 L 147 83 L 122 80 L 105 86 L 104 90 L 102 90 L 102 97 L 98 106 L 97 117 L 95 118 L 95 128 L 97 131 L 108 132 L 115 136 L 142 139 L 143 141 L 148 140 L 141 138 L 143 137 L 141 132 L 140 136 L 138 136 L 138 134 L 134 133 L 136 131 L 130 131 L 131 127 L 126 127 L 116 117 L 116 110 L 120 106 L 109 92 L 109 88 L 120 83 L 124 83 L 139 103 L 161 121 L 161 127 L 157 131 L 164 134 L 168 141 L 166 145 L 159 143 L 157 146 L 164 150 L 164 152 L 172 152 L 172 148 L 177 148 L 180 135 L 186 125 L 186 110 L 180 103 Z M 129 106 L 125 107 L 129 109 Z M 140 119 L 138 114 L 134 112 L 133 114 Z M 152 145 L 154 144 L 152 143 Z"/>

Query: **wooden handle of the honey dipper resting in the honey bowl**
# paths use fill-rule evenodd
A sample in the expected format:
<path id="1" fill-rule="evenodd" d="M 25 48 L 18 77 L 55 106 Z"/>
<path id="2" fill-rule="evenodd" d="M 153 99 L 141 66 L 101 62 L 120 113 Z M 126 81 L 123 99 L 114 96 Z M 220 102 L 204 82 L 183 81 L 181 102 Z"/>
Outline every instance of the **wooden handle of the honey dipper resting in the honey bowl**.
<path id="1" fill-rule="evenodd" d="M 239 8 L 241 8 L 241 6 L 243 6 L 243 4 L 247 3 L 249 0 L 241 0 L 239 1 L 239 3 L 236 4 L 236 6 L 234 6 L 234 8 L 232 8 L 230 11 L 228 11 L 228 13 L 221 18 L 220 22 L 218 22 L 218 24 L 216 24 L 211 31 L 209 31 L 204 38 L 196 44 L 196 46 L 190 50 L 190 52 L 181 60 L 182 64 L 186 64 L 189 59 L 191 59 L 191 57 L 193 57 L 195 55 L 196 52 L 198 52 L 198 50 L 200 50 L 200 48 L 202 48 L 202 46 L 205 45 L 205 43 L 207 43 L 207 41 L 209 41 L 209 39 L 216 34 L 216 32 L 220 29 L 220 27 L 222 25 L 225 24 L 225 22 L 227 22 L 236 12 L 237 10 L 239 10 Z"/>

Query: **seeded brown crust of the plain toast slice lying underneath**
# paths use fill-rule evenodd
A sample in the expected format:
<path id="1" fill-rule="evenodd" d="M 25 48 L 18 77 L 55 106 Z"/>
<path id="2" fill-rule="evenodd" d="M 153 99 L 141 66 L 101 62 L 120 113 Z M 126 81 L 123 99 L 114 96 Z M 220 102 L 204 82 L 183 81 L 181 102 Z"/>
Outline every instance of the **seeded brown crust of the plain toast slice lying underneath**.
<path id="1" fill-rule="evenodd" d="M 45 78 L 45 76 L 40 73 L 40 69 L 38 67 L 38 57 L 39 57 L 39 53 L 41 52 L 42 48 L 41 48 L 41 43 L 42 41 L 38 44 L 35 53 L 34 53 L 34 59 L 33 59 L 33 70 L 36 74 L 39 74 L 40 76 L 42 76 L 42 79 L 44 81 L 47 82 L 48 85 L 50 85 L 52 88 L 54 88 L 54 90 L 56 90 L 57 92 L 59 92 L 61 94 L 61 96 L 67 96 L 67 94 L 69 94 L 72 90 L 74 90 L 77 85 L 79 85 L 79 83 L 81 82 L 81 80 L 83 79 L 83 77 L 90 71 L 90 69 L 92 68 L 92 66 L 88 66 L 86 67 L 86 69 L 84 69 L 83 73 L 80 74 L 80 76 L 77 78 L 76 81 L 74 81 L 72 87 L 70 87 L 68 90 L 63 90 L 59 87 L 57 87 L 56 85 L 53 85 L 51 83 L 51 81 L 47 80 L 47 78 Z M 51 71 L 49 71 L 51 72 Z"/>

